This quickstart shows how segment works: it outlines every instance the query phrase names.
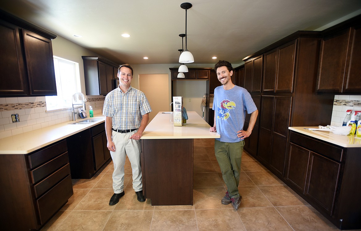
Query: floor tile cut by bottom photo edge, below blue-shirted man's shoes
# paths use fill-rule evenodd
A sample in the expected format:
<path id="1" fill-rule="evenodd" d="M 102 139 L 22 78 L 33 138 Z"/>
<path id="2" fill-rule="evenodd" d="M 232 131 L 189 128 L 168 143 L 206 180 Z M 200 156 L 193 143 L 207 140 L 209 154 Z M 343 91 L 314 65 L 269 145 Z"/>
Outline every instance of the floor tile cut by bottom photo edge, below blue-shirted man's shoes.
<path id="1" fill-rule="evenodd" d="M 245 231 L 234 209 L 196 210 L 196 217 L 199 231 Z"/>

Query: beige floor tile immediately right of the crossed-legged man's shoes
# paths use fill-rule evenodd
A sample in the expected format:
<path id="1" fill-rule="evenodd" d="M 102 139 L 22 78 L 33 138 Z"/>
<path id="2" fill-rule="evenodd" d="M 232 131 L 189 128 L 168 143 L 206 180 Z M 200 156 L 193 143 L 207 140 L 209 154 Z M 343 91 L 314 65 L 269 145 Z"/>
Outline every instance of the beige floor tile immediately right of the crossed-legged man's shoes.
<path id="1" fill-rule="evenodd" d="M 242 196 L 240 208 L 272 206 L 271 202 L 256 186 L 238 187 L 238 191 Z"/>

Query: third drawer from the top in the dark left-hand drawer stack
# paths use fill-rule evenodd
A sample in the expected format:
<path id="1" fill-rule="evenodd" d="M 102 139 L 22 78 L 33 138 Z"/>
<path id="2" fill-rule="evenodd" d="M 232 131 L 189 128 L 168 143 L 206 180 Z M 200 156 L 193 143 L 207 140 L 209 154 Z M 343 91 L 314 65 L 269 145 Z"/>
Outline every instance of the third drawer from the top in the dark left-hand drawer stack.
<path id="1" fill-rule="evenodd" d="M 70 174 L 70 164 L 66 164 L 64 167 L 60 168 L 50 176 L 46 177 L 44 180 L 40 181 L 38 184 L 34 185 L 35 197 L 38 198 L 49 188 L 53 187 L 61 179 Z"/>

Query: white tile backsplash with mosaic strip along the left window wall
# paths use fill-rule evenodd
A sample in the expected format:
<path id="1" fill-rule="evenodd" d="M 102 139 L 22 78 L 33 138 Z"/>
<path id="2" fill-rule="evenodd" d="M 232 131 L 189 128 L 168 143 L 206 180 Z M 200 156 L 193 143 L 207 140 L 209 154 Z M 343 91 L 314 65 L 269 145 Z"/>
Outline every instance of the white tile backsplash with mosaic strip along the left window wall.
<path id="1" fill-rule="evenodd" d="M 104 96 L 86 95 L 87 115 L 103 112 Z M 19 114 L 20 122 L 13 123 L 11 115 Z M 0 139 L 71 120 L 71 109 L 47 111 L 45 97 L 0 98 Z"/>

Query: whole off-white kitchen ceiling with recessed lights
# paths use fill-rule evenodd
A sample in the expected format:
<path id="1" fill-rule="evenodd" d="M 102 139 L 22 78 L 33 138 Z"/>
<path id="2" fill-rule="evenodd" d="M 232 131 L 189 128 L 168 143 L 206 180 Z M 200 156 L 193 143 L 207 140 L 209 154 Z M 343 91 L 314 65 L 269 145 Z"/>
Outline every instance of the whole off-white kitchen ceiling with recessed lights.
<path id="1" fill-rule="evenodd" d="M 179 34 L 185 33 L 183 2 L 1 0 L 0 8 L 119 64 L 175 64 L 182 48 Z M 216 63 L 213 56 L 240 64 L 244 57 L 297 30 L 315 30 L 348 14 L 361 13 L 360 0 L 190 3 L 187 48 L 195 64 Z M 131 36 L 123 38 L 123 33 Z"/>

